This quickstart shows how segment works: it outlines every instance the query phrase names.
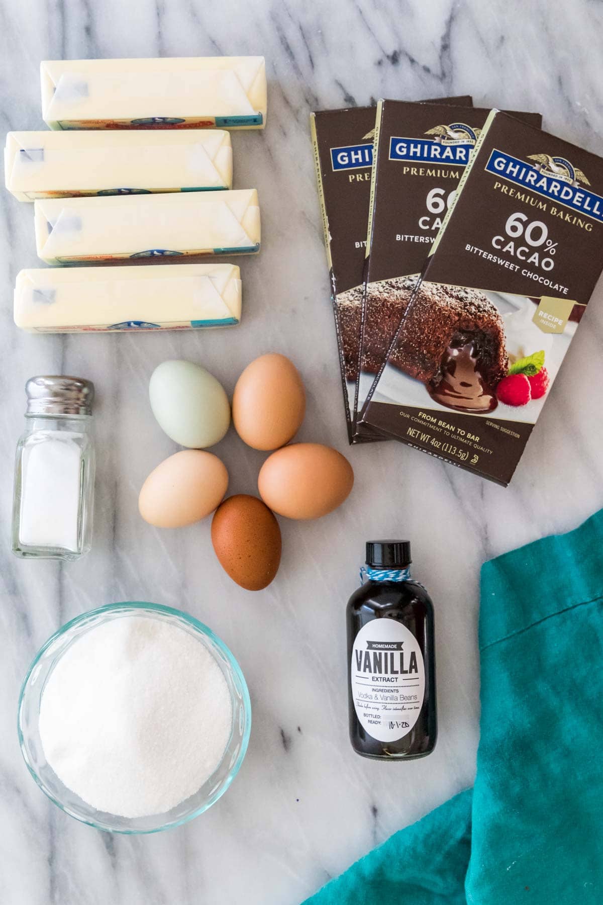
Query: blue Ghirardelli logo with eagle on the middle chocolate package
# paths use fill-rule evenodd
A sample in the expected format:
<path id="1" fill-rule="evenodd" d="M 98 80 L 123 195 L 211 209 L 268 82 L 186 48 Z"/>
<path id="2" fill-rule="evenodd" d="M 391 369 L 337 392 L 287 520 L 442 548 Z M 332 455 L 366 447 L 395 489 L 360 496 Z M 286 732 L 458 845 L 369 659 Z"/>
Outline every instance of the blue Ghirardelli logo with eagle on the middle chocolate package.
<path id="1" fill-rule="evenodd" d="M 448 164 L 466 167 L 481 129 L 465 122 L 433 126 L 425 132 L 429 138 L 390 138 L 390 160 L 405 163 Z"/>

